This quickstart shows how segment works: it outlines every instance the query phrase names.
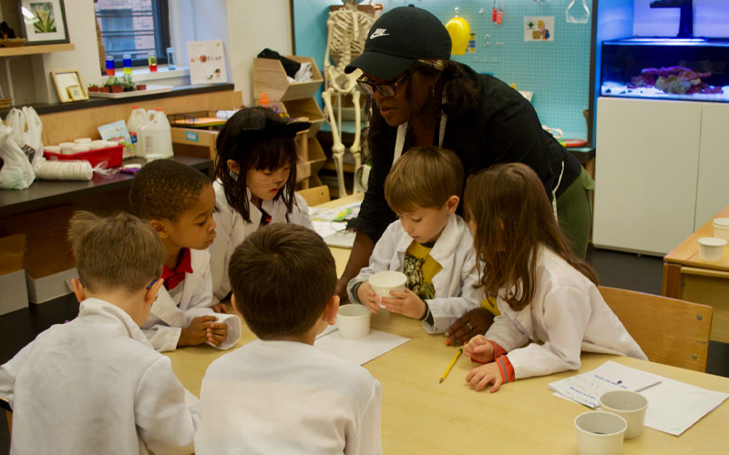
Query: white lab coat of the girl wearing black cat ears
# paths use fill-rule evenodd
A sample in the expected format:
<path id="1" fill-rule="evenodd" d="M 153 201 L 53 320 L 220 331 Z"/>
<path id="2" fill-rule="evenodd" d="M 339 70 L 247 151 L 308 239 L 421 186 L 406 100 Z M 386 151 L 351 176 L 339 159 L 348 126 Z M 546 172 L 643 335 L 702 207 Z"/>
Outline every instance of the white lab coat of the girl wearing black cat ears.
<path id="1" fill-rule="evenodd" d="M 231 280 L 228 278 L 228 264 L 236 247 L 250 236 L 261 225 L 261 210 L 251 202 L 251 190 L 246 188 L 251 222 L 246 223 L 241 214 L 225 198 L 220 181 L 213 183 L 215 189 L 215 211 L 212 214 L 217 227 L 218 237 L 210 246 L 210 271 L 212 272 L 212 292 L 215 298 L 221 300 L 231 292 Z M 312 219 L 309 217 L 309 206 L 303 197 L 294 193 L 293 209 L 286 214 L 286 205 L 283 200 L 265 200 L 262 208 L 271 215 L 272 223 L 293 223 L 313 230 Z"/>

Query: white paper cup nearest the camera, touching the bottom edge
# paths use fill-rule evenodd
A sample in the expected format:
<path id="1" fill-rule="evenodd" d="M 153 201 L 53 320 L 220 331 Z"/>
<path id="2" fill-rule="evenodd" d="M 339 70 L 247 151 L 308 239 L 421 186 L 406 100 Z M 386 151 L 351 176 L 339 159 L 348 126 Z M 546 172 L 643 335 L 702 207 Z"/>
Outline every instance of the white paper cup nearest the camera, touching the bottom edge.
<path id="1" fill-rule="evenodd" d="M 604 411 L 583 412 L 575 418 L 580 455 L 620 455 L 628 424 L 621 416 Z"/>

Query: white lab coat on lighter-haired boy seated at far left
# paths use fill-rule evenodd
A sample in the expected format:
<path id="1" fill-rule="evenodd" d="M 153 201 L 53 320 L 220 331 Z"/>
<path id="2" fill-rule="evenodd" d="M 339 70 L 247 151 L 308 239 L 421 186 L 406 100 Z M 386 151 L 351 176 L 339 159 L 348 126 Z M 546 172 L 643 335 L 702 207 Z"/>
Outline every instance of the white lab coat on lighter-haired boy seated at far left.
<path id="1" fill-rule="evenodd" d="M 0 367 L 12 455 L 191 453 L 200 409 L 185 394 L 134 320 L 98 298 Z"/>

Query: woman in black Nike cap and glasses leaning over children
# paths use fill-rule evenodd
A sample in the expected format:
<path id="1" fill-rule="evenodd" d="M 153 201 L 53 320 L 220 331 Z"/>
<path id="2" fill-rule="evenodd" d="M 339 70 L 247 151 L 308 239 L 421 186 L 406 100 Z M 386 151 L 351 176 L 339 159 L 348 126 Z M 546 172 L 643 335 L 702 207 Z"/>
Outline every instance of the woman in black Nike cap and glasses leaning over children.
<path id="1" fill-rule="evenodd" d="M 354 247 L 337 293 L 367 265 L 375 242 L 395 214 L 385 201 L 385 177 L 410 147 L 446 147 L 460 157 L 466 175 L 496 163 L 520 162 L 539 175 L 572 248 L 581 258 L 590 231 L 592 182 L 549 133 L 523 96 L 495 77 L 479 75 L 450 60 L 446 27 L 424 9 L 402 6 L 382 15 L 370 29 L 364 53 L 346 71 L 362 69 L 358 80 L 373 96 L 370 123 L 372 170 L 359 216 Z M 484 333 L 493 320 L 477 308 L 447 330 L 462 344 Z"/>

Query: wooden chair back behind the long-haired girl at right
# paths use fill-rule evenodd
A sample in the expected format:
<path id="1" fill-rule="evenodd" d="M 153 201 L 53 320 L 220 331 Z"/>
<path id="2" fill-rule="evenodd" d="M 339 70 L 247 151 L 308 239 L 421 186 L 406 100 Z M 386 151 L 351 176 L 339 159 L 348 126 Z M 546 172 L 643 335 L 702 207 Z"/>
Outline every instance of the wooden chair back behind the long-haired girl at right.
<path id="1" fill-rule="evenodd" d="M 713 308 L 626 289 L 599 289 L 649 360 L 705 371 Z"/>

